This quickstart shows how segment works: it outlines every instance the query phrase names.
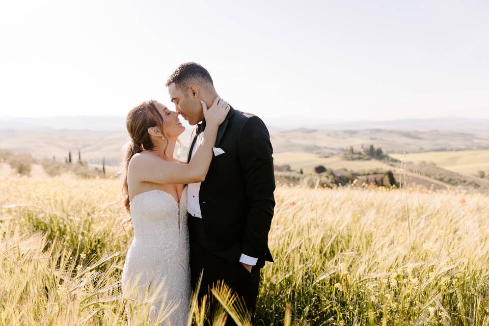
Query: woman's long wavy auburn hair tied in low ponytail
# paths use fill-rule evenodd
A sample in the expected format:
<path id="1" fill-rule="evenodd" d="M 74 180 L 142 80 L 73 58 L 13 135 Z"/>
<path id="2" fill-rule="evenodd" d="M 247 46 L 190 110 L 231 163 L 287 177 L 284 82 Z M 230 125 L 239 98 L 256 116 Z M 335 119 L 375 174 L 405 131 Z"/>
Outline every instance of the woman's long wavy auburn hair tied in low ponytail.
<path id="1" fill-rule="evenodd" d="M 144 150 L 150 150 L 154 147 L 153 142 L 148 133 L 148 128 L 157 126 L 165 135 L 167 144 L 165 152 L 168 148 L 168 137 L 163 126 L 163 117 L 159 113 L 154 104 L 154 100 L 144 101 L 141 104 L 133 107 L 126 117 L 126 128 L 129 133 L 130 140 L 124 146 L 124 157 L 121 161 L 118 176 L 122 181 L 122 195 L 124 197 L 124 206 L 129 213 L 129 218 L 122 221 L 123 227 L 125 223 L 131 222 L 130 207 L 129 207 L 129 188 L 127 185 L 127 170 L 129 162 L 137 153 Z M 180 144 L 180 141 L 178 141 Z M 181 148 L 181 145 L 180 145 Z M 164 154 L 166 156 L 166 154 Z M 168 160 L 168 158 L 166 156 Z M 132 223 L 131 223 L 132 224 Z"/>

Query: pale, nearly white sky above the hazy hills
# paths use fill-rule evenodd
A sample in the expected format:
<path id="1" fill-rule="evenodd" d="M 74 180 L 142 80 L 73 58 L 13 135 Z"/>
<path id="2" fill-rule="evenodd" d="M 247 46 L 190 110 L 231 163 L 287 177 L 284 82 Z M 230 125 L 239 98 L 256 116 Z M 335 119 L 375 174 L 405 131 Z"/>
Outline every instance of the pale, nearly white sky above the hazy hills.
<path id="1" fill-rule="evenodd" d="M 196 61 L 262 117 L 489 118 L 488 34 L 485 0 L 4 1 L 0 117 L 174 110 Z"/>

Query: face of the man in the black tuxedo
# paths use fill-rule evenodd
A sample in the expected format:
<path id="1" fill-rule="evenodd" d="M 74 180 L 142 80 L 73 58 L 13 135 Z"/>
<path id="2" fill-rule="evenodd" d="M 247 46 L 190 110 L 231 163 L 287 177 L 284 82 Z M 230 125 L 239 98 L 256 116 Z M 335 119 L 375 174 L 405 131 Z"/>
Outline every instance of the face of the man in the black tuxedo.
<path id="1" fill-rule="evenodd" d="M 170 93 L 170 98 L 175 104 L 175 111 L 190 125 L 193 126 L 202 121 L 204 118 L 202 104 L 190 88 L 183 91 L 178 89 L 175 83 L 172 83 L 168 86 L 168 93 Z"/>

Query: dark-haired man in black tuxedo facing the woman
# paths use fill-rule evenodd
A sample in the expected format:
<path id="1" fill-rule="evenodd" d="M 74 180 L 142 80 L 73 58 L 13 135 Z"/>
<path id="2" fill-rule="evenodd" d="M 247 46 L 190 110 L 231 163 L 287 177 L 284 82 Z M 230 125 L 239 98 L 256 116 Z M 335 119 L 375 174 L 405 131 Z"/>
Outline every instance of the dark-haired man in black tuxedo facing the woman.
<path id="1" fill-rule="evenodd" d="M 166 85 L 176 112 L 197 124 L 188 162 L 205 133 L 200 101 L 210 107 L 218 94 L 209 72 L 193 62 L 180 65 Z M 199 298 L 211 297 L 209 288 L 222 280 L 253 316 L 260 268 L 265 260 L 273 262 L 268 250 L 275 207 L 273 149 L 263 121 L 231 107 L 213 150 L 205 180 L 188 185 L 192 286 L 196 288 L 203 269 Z M 234 324 L 231 318 L 228 324 Z"/>

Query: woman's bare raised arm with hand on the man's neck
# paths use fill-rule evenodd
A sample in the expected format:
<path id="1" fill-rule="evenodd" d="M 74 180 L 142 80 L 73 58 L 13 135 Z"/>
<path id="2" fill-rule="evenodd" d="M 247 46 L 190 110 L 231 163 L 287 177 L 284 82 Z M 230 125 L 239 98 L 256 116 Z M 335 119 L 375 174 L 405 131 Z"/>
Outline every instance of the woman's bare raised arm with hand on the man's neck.
<path id="1" fill-rule="evenodd" d="M 216 97 L 213 105 L 207 110 L 202 103 L 206 128 L 202 143 L 188 164 L 180 164 L 162 160 L 154 155 L 135 154 L 129 162 L 129 173 L 138 181 L 162 184 L 196 183 L 205 179 L 212 160 L 212 147 L 218 134 L 219 125 L 229 112 L 225 101 L 217 104 Z M 131 177 L 131 178 L 132 178 Z"/>

